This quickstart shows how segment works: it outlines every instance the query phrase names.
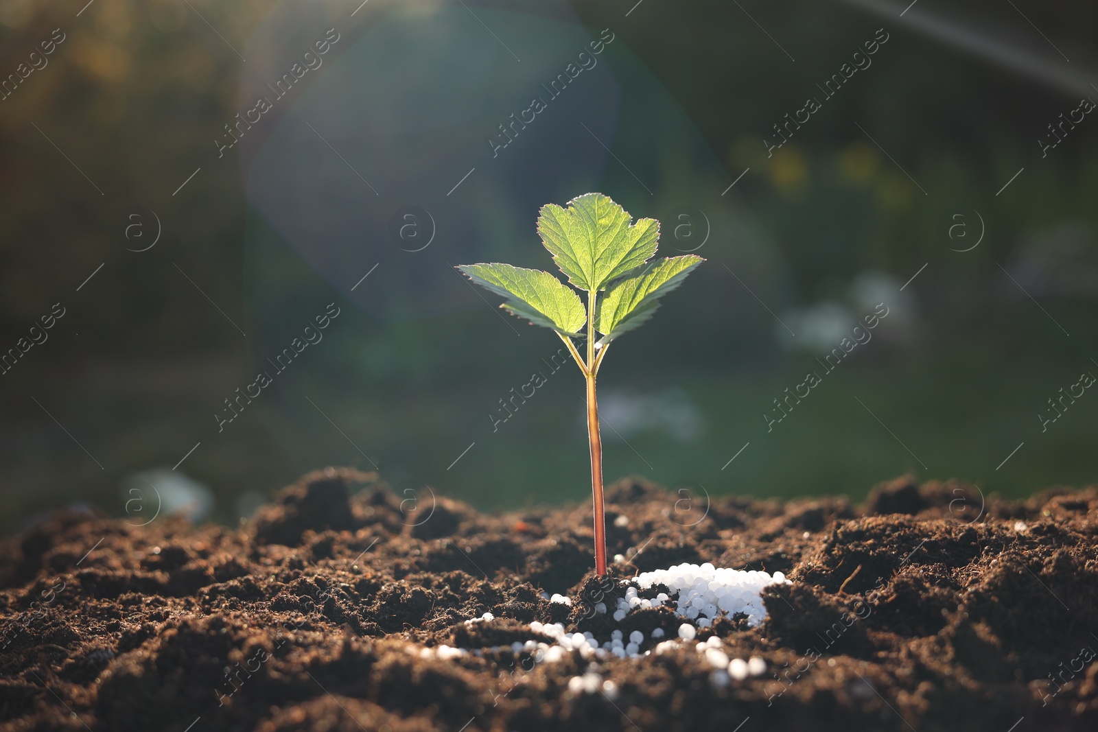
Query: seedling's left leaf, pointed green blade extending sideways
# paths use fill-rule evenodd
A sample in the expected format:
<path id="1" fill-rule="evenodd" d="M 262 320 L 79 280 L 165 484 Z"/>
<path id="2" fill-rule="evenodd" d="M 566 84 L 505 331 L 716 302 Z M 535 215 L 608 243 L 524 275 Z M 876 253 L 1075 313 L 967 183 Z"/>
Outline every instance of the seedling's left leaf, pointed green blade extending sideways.
<path id="1" fill-rule="evenodd" d="M 587 324 L 587 311 L 575 291 L 549 272 L 489 262 L 460 264 L 477 284 L 507 297 L 502 307 L 535 325 L 576 336 Z"/>

